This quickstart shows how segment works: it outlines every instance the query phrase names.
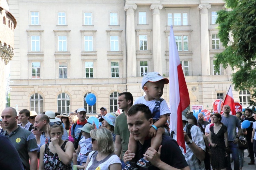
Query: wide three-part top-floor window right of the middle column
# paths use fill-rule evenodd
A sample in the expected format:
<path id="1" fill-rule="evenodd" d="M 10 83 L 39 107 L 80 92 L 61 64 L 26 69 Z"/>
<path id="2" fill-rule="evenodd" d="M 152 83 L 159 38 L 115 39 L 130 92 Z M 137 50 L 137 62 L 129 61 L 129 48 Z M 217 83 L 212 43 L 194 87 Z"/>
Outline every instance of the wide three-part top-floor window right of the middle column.
<path id="1" fill-rule="evenodd" d="M 187 26 L 188 13 L 167 13 L 168 26 Z"/>

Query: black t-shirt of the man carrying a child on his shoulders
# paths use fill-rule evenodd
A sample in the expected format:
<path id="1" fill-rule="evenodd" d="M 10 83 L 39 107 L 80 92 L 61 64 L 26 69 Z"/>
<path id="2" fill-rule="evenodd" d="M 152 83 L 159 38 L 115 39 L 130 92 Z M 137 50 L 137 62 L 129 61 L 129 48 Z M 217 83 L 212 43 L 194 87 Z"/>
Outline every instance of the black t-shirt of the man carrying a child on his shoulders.
<path id="1" fill-rule="evenodd" d="M 145 140 L 143 145 L 141 145 L 141 143 L 138 141 L 138 149 L 135 156 L 136 162 L 138 162 L 140 158 L 144 157 L 143 154 L 150 147 L 150 143 L 151 143 L 151 139 Z M 161 149 L 160 159 L 163 162 L 178 169 L 182 169 L 188 166 L 185 160 L 185 157 L 180 150 L 178 143 L 174 139 L 163 135 L 161 145 L 162 145 L 162 149 Z M 146 169 L 158 170 L 158 168 L 154 166 L 150 166 L 148 168 L 142 168 L 139 166 L 137 167 L 139 168 L 139 170 L 146 170 Z"/>

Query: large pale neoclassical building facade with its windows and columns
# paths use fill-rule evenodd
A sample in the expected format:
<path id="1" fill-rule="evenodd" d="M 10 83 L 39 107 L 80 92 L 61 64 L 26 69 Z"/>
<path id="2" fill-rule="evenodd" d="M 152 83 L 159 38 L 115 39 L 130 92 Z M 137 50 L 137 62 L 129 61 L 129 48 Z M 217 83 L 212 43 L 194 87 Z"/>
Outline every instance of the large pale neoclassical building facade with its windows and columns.
<path id="1" fill-rule="evenodd" d="M 153 3 L 154 2 L 154 3 Z M 214 55 L 222 47 L 216 12 L 222 0 L 9 0 L 17 18 L 15 56 L 11 61 L 11 106 L 69 113 L 118 109 L 118 93 L 143 95 L 143 73 L 169 77 L 169 34 L 187 82 L 190 107 L 212 109 L 231 84 L 231 69 L 217 71 Z M 171 78 L 170 78 L 171 81 Z M 85 97 L 93 93 L 96 104 Z M 246 92 L 247 93 L 247 92 Z M 243 93 L 242 93 L 243 94 Z M 235 101 L 247 98 L 233 90 Z M 162 96 L 169 103 L 169 85 Z M 247 103 L 246 103 L 247 102 Z"/>

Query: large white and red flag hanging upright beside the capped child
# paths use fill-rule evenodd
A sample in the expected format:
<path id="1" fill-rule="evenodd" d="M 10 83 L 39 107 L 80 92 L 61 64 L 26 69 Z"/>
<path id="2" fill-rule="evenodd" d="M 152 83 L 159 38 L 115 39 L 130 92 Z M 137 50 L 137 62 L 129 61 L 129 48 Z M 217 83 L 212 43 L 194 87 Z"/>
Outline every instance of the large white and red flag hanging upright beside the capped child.
<path id="1" fill-rule="evenodd" d="M 177 132 L 177 143 L 184 149 L 184 152 L 186 153 L 182 124 L 182 111 L 189 106 L 190 100 L 172 26 L 169 40 L 169 95 L 171 112 L 170 130 Z"/>

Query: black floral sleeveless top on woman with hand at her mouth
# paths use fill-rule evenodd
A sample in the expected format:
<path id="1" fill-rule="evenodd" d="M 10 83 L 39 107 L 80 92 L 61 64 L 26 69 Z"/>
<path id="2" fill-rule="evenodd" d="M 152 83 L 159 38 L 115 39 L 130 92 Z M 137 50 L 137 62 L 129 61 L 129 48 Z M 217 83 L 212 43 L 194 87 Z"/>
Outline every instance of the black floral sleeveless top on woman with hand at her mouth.
<path id="1" fill-rule="evenodd" d="M 65 146 L 68 141 L 65 141 L 63 145 L 61 145 L 62 151 L 65 152 Z M 45 170 L 71 170 L 71 162 L 69 165 L 65 165 L 59 159 L 57 153 L 53 154 L 49 149 L 49 143 L 45 144 L 44 149 L 44 169 Z"/>

